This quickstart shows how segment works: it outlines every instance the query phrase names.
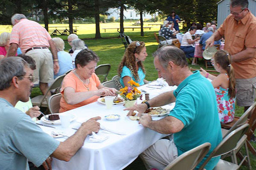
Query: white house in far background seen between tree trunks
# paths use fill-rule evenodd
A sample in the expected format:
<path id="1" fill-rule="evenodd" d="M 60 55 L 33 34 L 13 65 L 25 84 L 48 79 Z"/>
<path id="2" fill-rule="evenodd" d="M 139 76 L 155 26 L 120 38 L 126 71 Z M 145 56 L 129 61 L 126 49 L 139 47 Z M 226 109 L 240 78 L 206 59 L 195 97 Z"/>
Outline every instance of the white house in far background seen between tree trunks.
<path id="1" fill-rule="evenodd" d="M 116 19 L 120 18 L 120 8 L 109 8 L 107 11 L 110 15 L 108 15 L 108 19 L 111 17 L 115 17 Z M 143 19 L 151 19 L 153 17 L 157 17 L 158 12 L 155 14 L 143 14 Z M 124 19 L 140 19 L 140 13 L 137 13 L 135 9 L 129 8 L 124 10 Z"/>

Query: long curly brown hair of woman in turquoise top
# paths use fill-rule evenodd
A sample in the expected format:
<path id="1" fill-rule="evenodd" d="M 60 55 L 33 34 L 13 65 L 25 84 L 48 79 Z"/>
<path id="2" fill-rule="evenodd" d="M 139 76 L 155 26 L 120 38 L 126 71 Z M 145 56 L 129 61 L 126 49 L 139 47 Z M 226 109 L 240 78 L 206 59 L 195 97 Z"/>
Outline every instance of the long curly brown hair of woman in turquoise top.
<path id="1" fill-rule="evenodd" d="M 126 66 L 127 68 L 129 68 L 131 70 L 131 73 L 134 76 L 134 78 L 136 79 L 136 81 L 139 81 L 140 78 L 138 76 L 138 71 L 136 68 L 136 58 L 135 58 L 134 54 L 135 53 L 140 54 L 142 49 L 145 47 L 145 42 L 141 41 L 140 46 L 137 46 L 136 42 L 139 42 L 139 41 L 131 42 L 131 44 L 129 44 L 128 47 L 126 48 L 124 57 L 122 58 L 122 61 L 119 64 L 117 73 L 119 76 L 121 76 L 122 68 L 124 66 Z M 138 67 L 141 67 L 143 70 L 143 73 L 145 74 L 145 68 L 144 68 L 142 62 L 139 61 L 137 63 L 138 63 Z"/>

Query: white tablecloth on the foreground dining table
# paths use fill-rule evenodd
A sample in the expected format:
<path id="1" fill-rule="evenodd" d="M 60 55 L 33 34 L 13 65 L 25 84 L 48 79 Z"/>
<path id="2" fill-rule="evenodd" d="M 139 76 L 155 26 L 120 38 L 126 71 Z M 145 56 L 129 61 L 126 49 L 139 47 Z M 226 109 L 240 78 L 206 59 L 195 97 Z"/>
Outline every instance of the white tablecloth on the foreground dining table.
<path id="1" fill-rule="evenodd" d="M 154 84 L 152 82 L 151 84 Z M 160 88 L 159 86 L 152 86 Z M 164 87 L 162 89 L 149 88 L 147 85 L 140 87 L 150 94 L 150 98 L 157 96 L 160 93 L 174 90 L 177 87 Z M 143 95 L 144 98 L 144 95 Z M 137 99 L 140 103 L 141 100 Z M 174 105 L 166 105 L 163 108 L 172 109 Z M 101 116 L 101 123 L 111 129 L 118 129 L 127 133 L 126 135 L 118 135 L 113 133 L 103 133 L 99 131 L 100 136 L 108 136 L 109 138 L 103 142 L 92 143 L 85 139 L 83 147 L 76 153 L 69 161 L 60 161 L 53 159 L 53 170 L 122 170 L 128 164 L 131 164 L 140 153 L 142 153 L 149 146 L 154 144 L 158 139 L 166 136 L 157 133 L 153 130 L 143 127 L 138 124 L 138 121 L 132 121 L 126 116 L 128 111 L 123 111 L 122 104 L 113 105 L 112 109 L 106 109 L 105 105 L 99 102 L 94 102 L 80 108 L 76 108 L 65 112 L 66 114 L 73 114 L 76 120 L 70 124 L 70 127 L 78 128 L 81 124 L 78 122 L 85 121 L 94 116 Z M 108 121 L 104 118 L 108 114 L 119 114 L 121 118 L 117 121 Z M 154 118 L 155 120 L 159 118 Z M 42 121 L 38 121 L 43 123 Z M 67 136 L 71 136 L 76 130 L 69 128 L 62 129 L 61 125 L 51 125 L 57 127 L 57 130 L 64 131 Z M 50 127 L 40 126 L 44 131 L 55 130 Z M 88 138 L 88 137 L 87 137 Z M 67 137 L 56 138 L 59 141 L 64 141 Z"/>

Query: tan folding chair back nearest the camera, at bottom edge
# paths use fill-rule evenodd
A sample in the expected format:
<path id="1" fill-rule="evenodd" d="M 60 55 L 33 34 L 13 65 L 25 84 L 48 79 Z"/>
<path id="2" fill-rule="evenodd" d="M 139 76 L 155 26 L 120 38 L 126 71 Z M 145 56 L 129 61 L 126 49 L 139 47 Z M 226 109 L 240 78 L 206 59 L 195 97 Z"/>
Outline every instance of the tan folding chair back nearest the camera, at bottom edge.
<path id="1" fill-rule="evenodd" d="M 163 170 L 194 170 L 201 160 L 209 152 L 211 144 L 209 142 L 199 145 L 178 156 Z"/>

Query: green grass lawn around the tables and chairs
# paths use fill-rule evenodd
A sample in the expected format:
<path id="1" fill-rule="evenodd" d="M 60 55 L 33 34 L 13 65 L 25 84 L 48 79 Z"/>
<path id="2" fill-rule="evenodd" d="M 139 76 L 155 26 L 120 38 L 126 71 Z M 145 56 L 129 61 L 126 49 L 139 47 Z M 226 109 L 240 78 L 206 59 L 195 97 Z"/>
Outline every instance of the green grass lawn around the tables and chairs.
<path id="1" fill-rule="evenodd" d="M 157 71 L 154 68 L 152 53 L 157 49 L 157 42 L 154 38 L 154 32 L 156 31 L 145 31 L 145 36 L 141 37 L 140 32 L 131 31 L 125 32 L 128 34 L 132 40 L 144 41 L 147 48 L 148 57 L 145 62 L 143 62 L 146 70 L 146 79 L 155 80 L 157 79 Z M 65 40 L 65 50 L 68 51 L 70 45 L 67 43 L 67 36 L 58 36 Z M 83 34 L 79 35 L 79 38 L 83 39 L 84 42 L 88 45 L 90 49 L 95 51 L 100 58 L 99 64 L 111 64 L 111 71 L 108 75 L 108 79 L 111 79 L 113 76 L 117 75 L 117 68 L 124 54 L 125 48 L 119 38 L 119 33 L 102 33 L 102 39 L 95 40 L 93 39 L 94 34 Z M 199 66 L 192 66 L 192 68 L 205 68 L 204 61 L 198 61 Z M 32 97 L 40 94 L 38 88 L 35 88 L 32 92 Z M 236 116 L 241 116 L 243 113 L 243 108 L 236 106 Z M 254 146 L 255 147 L 255 146 Z M 256 169 L 256 159 L 255 156 L 250 155 L 251 164 L 253 169 Z M 140 159 L 136 159 L 131 165 L 125 168 L 125 170 L 144 170 L 145 167 Z M 243 166 L 242 170 L 246 170 L 247 167 Z"/>

